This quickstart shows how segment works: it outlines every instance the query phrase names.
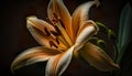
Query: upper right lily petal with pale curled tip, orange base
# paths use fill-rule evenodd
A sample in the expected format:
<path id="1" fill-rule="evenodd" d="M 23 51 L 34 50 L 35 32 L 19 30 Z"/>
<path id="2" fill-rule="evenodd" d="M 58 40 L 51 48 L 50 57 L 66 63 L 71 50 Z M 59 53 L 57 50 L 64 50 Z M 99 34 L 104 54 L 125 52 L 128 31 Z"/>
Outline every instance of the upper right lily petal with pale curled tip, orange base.
<path id="1" fill-rule="evenodd" d="M 86 2 L 79 6 L 73 13 L 72 25 L 75 37 L 77 35 L 79 26 L 84 23 L 84 21 L 88 20 L 88 11 L 94 4 L 97 4 L 97 1 Z"/>

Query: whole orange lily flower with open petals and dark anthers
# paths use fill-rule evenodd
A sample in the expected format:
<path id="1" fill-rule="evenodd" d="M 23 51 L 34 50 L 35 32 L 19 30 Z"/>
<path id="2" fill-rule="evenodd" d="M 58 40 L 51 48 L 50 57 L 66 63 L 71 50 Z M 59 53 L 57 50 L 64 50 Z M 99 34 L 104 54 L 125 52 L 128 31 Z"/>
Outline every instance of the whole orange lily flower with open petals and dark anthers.
<path id="1" fill-rule="evenodd" d="M 11 69 L 47 61 L 45 76 L 61 76 L 75 55 L 100 70 L 119 68 L 105 51 L 88 42 L 99 31 L 97 24 L 88 19 L 88 11 L 94 4 L 98 6 L 99 1 L 88 1 L 70 15 L 63 0 L 51 0 L 47 21 L 35 15 L 29 17 L 28 30 L 42 46 L 20 54 L 13 61 Z"/>

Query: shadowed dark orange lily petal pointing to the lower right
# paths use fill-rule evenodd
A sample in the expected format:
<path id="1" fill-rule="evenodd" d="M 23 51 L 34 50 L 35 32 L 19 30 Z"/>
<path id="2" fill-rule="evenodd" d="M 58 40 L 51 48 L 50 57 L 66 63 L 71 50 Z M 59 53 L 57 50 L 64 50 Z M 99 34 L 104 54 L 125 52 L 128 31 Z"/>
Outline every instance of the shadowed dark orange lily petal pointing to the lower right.
<path id="1" fill-rule="evenodd" d="M 96 67 L 99 70 L 108 72 L 119 68 L 119 65 L 116 64 L 109 55 L 105 53 L 100 47 L 87 43 L 80 51 L 79 55 L 88 62 L 91 66 Z"/>

